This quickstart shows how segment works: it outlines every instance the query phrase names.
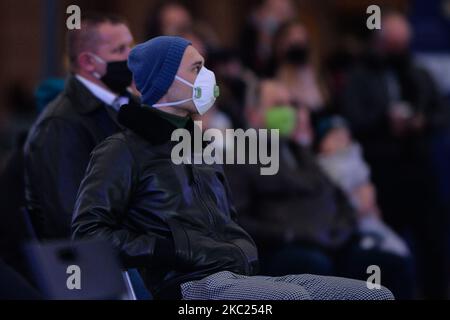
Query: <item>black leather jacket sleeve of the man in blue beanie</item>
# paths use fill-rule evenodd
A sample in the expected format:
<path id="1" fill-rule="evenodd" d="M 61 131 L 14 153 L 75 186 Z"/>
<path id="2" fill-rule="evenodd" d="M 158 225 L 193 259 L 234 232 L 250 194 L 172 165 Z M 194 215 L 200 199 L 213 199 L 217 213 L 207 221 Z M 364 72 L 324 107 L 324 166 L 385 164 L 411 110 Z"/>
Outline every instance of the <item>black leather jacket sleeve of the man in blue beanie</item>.
<path id="1" fill-rule="evenodd" d="M 121 223 L 138 181 L 137 165 L 125 142 L 110 138 L 92 153 L 75 203 L 74 239 L 101 238 L 118 249 L 125 267 L 175 260 L 170 240 L 133 232 Z"/>

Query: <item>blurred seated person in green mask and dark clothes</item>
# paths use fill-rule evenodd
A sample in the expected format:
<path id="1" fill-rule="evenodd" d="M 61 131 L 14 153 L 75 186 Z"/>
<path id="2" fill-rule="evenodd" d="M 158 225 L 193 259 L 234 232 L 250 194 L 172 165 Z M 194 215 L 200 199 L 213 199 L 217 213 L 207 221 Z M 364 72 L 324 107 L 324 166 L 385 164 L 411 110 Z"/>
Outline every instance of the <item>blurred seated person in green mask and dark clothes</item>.
<path id="1" fill-rule="evenodd" d="M 265 80 L 255 89 L 248 121 L 254 128 L 280 130 L 279 172 L 262 176 L 257 165 L 225 168 L 240 224 L 258 245 L 262 273 L 366 279 L 374 264 L 397 298 L 411 298 L 410 261 L 364 245 L 355 208 L 320 168 L 311 149 L 309 110 L 301 107 L 297 113 L 280 82 Z"/>

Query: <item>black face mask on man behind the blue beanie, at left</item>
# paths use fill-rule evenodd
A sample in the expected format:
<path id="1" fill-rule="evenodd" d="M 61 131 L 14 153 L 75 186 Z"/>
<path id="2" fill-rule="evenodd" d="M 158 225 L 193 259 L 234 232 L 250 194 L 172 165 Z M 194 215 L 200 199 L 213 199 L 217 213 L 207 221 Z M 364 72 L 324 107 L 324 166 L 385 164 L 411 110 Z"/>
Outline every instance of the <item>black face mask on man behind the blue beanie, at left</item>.
<path id="1" fill-rule="evenodd" d="M 106 73 L 100 80 L 111 91 L 118 94 L 125 93 L 133 81 L 133 75 L 128 69 L 127 60 L 108 62 L 106 64 Z"/>

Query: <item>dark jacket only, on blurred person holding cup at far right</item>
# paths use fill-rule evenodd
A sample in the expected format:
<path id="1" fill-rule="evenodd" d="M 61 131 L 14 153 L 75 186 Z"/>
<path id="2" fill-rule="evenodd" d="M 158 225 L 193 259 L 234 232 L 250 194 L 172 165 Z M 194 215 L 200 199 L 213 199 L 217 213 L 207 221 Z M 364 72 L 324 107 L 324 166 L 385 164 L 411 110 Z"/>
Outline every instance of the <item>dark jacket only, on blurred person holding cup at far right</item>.
<path id="1" fill-rule="evenodd" d="M 389 75 L 397 86 L 389 85 Z M 395 92 L 395 94 L 394 94 Z M 356 137 L 363 141 L 388 144 L 396 138 L 389 128 L 388 112 L 392 103 L 406 101 L 414 114 L 426 120 L 424 133 L 448 124 L 449 112 L 431 75 L 405 57 L 401 66 L 389 67 L 374 54 L 355 66 L 340 96 L 338 111 L 349 121 Z"/>

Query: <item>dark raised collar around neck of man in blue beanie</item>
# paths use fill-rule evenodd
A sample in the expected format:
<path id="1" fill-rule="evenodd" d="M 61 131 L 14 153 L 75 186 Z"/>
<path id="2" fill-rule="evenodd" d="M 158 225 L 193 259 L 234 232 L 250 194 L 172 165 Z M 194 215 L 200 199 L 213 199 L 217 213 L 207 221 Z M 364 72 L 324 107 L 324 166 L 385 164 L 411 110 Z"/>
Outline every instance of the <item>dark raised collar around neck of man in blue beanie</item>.
<path id="1" fill-rule="evenodd" d="M 122 106 L 118 120 L 120 124 L 155 145 L 170 142 L 172 132 L 178 129 L 170 121 L 158 115 L 155 110 L 137 104 Z M 192 119 L 189 119 L 184 129 L 187 129 L 193 136 L 194 122 Z"/>

